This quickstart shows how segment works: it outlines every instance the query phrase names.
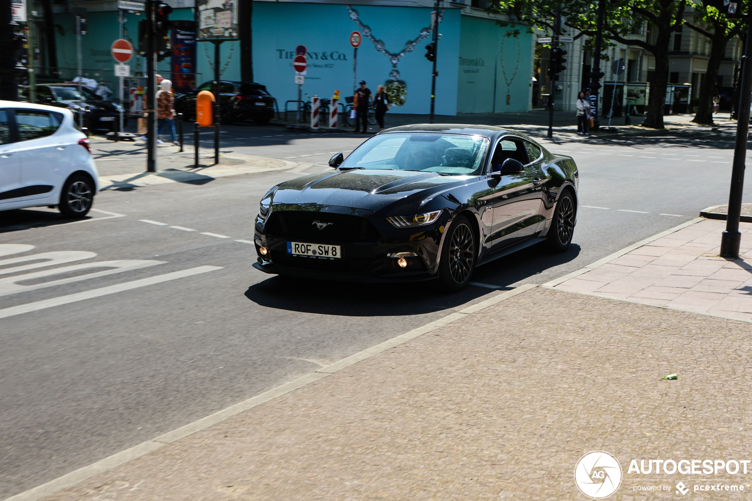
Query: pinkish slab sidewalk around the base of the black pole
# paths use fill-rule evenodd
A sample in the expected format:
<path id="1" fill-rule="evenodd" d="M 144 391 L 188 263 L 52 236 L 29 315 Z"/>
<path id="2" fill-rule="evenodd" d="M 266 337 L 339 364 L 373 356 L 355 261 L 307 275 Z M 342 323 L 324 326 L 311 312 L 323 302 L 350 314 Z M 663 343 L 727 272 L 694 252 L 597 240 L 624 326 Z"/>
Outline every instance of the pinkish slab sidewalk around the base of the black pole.
<path id="1" fill-rule="evenodd" d="M 752 223 L 741 257 L 720 258 L 725 221 L 702 219 L 556 285 L 567 291 L 752 321 Z"/>

